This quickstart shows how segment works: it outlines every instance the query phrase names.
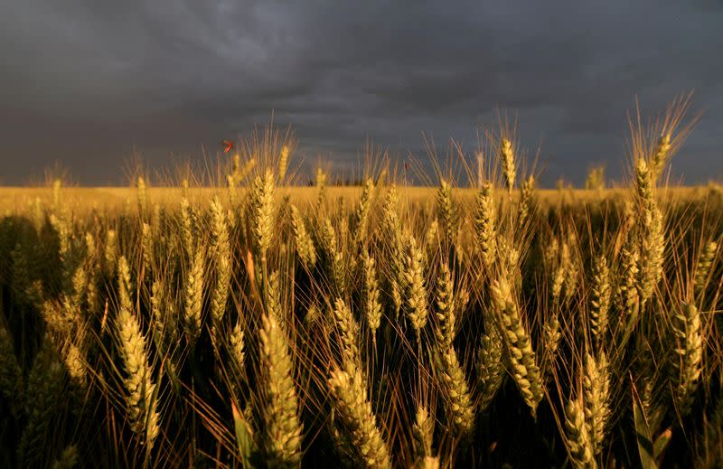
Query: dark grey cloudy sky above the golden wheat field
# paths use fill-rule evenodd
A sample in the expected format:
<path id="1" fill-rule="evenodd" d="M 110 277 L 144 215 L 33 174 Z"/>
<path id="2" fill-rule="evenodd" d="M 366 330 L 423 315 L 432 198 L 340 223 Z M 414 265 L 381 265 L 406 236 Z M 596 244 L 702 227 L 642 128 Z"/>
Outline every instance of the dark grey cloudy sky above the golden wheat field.
<path id="1" fill-rule="evenodd" d="M 626 113 L 695 90 L 704 111 L 673 174 L 723 176 L 721 0 L 0 2 L 0 183 L 60 162 L 84 184 L 216 157 L 293 125 L 297 157 L 357 167 L 367 137 L 400 161 L 421 133 L 476 145 L 495 108 L 540 145 L 541 182 L 619 178 Z M 173 157 L 172 157 L 173 155 Z"/>

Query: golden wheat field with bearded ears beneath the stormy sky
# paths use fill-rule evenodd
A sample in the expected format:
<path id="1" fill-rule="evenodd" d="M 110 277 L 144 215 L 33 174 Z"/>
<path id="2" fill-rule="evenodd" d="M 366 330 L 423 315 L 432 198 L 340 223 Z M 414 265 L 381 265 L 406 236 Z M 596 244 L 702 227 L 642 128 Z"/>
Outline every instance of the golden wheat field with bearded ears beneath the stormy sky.
<path id="1" fill-rule="evenodd" d="M 504 128 L 464 187 L 296 187 L 269 129 L 215 187 L 0 189 L 0 464 L 720 467 L 723 192 L 666 183 L 677 112 L 615 189 L 536 189 Z"/>

